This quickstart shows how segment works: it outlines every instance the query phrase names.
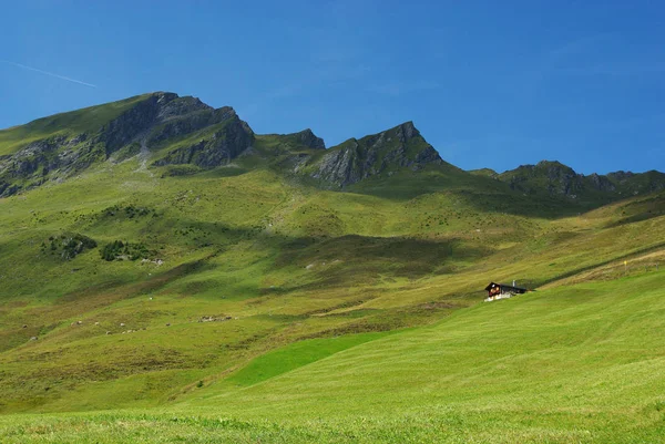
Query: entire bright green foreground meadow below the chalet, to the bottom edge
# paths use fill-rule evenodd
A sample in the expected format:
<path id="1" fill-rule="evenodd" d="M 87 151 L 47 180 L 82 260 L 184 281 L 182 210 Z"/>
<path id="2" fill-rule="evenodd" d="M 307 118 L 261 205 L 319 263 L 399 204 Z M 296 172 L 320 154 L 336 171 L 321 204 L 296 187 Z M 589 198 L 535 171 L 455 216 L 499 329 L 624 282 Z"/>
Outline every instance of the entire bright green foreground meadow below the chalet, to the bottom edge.
<path id="1" fill-rule="evenodd" d="M 4 416 L 0 436 L 8 443 L 657 442 L 665 433 L 663 277 L 480 304 L 263 382 L 239 376 L 242 389 L 222 382 L 198 389 L 168 411 Z M 298 359 L 307 345 L 319 349 L 311 341 L 283 353 Z"/>

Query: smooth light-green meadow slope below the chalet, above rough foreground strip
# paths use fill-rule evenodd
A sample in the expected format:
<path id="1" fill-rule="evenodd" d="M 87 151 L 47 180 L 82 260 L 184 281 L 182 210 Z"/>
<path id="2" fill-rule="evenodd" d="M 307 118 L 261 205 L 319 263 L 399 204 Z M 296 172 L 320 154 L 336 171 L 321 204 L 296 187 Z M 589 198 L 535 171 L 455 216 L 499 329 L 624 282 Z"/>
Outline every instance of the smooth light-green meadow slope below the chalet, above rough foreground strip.
<path id="1" fill-rule="evenodd" d="M 664 276 L 478 306 L 188 405 L 295 424 L 453 417 L 451 436 L 489 442 L 651 441 L 665 432 Z"/>

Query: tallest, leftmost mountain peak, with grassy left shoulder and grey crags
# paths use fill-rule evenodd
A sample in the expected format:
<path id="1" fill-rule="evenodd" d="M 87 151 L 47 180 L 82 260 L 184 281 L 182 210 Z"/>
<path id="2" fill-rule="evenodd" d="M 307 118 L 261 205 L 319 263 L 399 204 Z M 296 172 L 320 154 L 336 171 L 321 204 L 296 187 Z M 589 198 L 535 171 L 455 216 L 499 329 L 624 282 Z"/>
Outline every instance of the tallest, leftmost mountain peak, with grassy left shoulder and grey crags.
<path id="1" fill-rule="evenodd" d="M 197 140 L 186 143 L 187 136 Z M 0 196 L 62 180 L 103 161 L 145 157 L 173 141 L 177 147 L 155 165 L 214 167 L 249 147 L 254 133 L 232 107 L 215 110 L 173 93 L 58 114 L 0 132 Z"/>

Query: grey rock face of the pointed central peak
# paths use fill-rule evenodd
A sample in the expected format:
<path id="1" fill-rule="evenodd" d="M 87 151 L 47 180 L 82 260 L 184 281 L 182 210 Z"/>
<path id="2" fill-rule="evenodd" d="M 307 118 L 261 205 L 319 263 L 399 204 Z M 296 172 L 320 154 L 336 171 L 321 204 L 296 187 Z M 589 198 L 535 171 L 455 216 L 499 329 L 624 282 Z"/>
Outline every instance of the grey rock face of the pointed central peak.
<path id="1" fill-rule="evenodd" d="M 418 171 L 427 164 L 441 163 L 439 153 L 420 136 L 412 122 L 407 122 L 330 148 L 311 177 L 342 187 L 399 168 Z"/>

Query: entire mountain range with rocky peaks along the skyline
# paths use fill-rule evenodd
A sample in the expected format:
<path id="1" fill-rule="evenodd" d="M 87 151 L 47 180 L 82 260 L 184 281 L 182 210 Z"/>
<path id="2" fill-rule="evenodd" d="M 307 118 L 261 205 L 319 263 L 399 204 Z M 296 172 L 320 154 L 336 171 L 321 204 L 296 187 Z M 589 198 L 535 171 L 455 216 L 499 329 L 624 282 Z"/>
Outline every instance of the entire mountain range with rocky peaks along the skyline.
<path id="1" fill-rule="evenodd" d="M 243 157 L 244 168 L 264 165 L 323 188 L 369 193 L 405 189 L 406 183 L 413 183 L 409 195 L 456 184 L 489 189 L 487 179 L 493 178 L 516 193 L 585 208 L 665 188 L 665 174 L 655 171 L 584 176 L 546 161 L 502 174 L 487 168 L 466 173 L 446 163 L 412 122 L 326 149 L 311 130 L 257 135 L 229 106 L 213 109 L 196 97 L 157 92 L 0 131 L 0 196 L 134 156 L 142 168 L 162 175 L 196 174 Z M 426 169 L 418 177 L 405 173 Z M 396 174 L 400 177 L 390 179 Z M 424 179 L 428 174 L 433 176 Z"/>

